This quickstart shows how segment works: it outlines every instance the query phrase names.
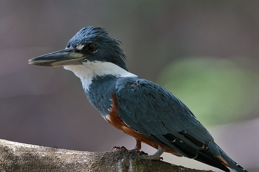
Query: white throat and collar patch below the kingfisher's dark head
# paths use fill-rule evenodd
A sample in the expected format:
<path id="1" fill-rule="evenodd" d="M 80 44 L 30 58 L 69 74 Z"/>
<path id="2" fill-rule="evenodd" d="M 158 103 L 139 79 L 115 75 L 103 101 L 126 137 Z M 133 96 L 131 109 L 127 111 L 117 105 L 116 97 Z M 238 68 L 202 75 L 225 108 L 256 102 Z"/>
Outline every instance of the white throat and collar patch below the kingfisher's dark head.
<path id="1" fill-rule="evenodd" d="M 138 77 L 111 62 L 87 61 L 78 65 L 66 65 L 64 69 L 72 71 L 81 79 L 85 91 L 89 89 L 89 85 L 96 76 Z"/>

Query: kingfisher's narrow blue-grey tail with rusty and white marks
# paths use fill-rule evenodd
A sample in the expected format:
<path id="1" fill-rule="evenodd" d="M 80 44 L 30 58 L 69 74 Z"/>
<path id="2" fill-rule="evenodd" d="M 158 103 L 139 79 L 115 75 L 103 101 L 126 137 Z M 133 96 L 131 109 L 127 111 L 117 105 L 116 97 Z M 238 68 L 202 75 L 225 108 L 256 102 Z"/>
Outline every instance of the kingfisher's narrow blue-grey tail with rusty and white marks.
<path id="1" fill-rule="evenodd" d="M 210 149 L 210 153 L 225 166 L 230 167 L 238 172 L 248 172 L 235 161 L 233 161 L 230 157 L 228 157 L 228 155 L 226 155 L 226 153 L 224 153 L 224 151 L 214 141 L 208 144 L 208 148 Z"/>

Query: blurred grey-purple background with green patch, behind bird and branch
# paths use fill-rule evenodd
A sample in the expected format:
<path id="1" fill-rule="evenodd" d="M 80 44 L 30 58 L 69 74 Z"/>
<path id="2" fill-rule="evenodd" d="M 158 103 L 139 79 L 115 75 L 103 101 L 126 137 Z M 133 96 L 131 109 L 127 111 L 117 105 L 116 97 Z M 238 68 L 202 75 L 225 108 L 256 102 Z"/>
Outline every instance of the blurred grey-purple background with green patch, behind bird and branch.
<path id="1" fill-rule="evenodd" d="M 100 26 L 123 43 L 131 73 L 170 90 L 234 161 L 259 171 L 259 1 L 8 0 L 0 1 L 0 23 L 1 139 L 96 152 L 134 147 L 92 107 L 71 71 L 27 61 Z"/>

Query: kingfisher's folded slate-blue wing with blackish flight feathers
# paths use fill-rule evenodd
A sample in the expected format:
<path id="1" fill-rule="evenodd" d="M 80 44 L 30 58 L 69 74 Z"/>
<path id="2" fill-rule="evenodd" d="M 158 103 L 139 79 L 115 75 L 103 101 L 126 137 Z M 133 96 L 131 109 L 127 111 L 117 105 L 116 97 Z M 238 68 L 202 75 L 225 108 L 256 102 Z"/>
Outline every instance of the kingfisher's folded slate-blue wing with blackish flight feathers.
<path id="1" fill-rule="evenodd" d="M 185 157 L 208 151 L 213 140 L 191 110 L 163 87 L 140 78 L 117 80 L 120 118 L 133 130 L 165 144 Z"/>

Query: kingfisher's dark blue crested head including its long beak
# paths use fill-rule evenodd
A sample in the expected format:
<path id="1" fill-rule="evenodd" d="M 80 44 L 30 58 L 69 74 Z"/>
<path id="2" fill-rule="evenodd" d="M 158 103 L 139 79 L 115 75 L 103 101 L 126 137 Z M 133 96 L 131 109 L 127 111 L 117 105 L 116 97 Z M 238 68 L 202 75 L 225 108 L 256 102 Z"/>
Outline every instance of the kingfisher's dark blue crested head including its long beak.
<path id="1" fill-rule="evenodd" d="M 66 66 L 81 65 L 86 62 L 109 62 L 127 71 L 126 56 L 119 47 L 120 41 L 108 35 L 100 27 L 89 26 L 81 29 L 66 48 L 28 60 L 29 64 L 39 66 Z"/>

